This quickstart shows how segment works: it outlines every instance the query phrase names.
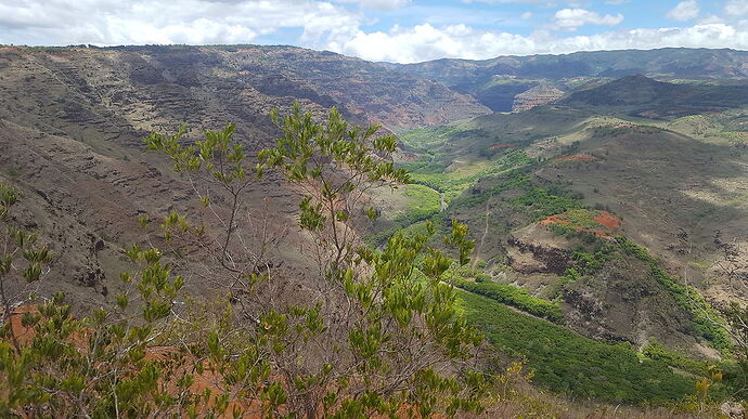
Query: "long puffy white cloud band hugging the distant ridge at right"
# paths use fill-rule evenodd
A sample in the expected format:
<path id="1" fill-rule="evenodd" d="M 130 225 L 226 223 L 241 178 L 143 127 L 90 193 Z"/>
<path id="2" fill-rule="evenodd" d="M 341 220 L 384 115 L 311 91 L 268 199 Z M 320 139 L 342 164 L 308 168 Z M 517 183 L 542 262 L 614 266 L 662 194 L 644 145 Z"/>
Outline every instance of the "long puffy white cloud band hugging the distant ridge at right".
<path id="1" fill-rule="evenodd" d="M 559 38 L 549 31 L 520 36 L 480 31 L 456 25 L 418 25 L 387 32 L 358 30 L 348 40 L 328 44 L 333 51 L 371 61 L 414 63 L 441 57 L 483 60 L 499 55 L 565 54 L 590 50 L 654 49 L 665 47 L 748 49 L 746 25 L 694 25 L 685 28 L 632 29 Z"/>

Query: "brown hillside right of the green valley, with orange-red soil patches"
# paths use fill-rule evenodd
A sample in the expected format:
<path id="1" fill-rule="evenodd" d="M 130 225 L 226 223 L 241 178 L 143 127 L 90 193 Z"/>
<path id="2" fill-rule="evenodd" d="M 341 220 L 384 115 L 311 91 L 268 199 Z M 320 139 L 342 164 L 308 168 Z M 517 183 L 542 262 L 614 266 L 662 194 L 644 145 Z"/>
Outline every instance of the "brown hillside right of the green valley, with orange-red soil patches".
<path id="1" fill-rule="evenodd" d="M 629 77 L 597 89 L 576 96 L 594 104 L 572 95 L 563 104 L 407 133 L 423 157 L 405 165 L 416 182 L 451 197 L 435 221 L 456 217 L 469 225 L 473 265 L 485 266 L 491 280 L 560 297 L 569 327 L 584 336 L 637 345 L 656 338 L 713 356 L 709 346 L 720 343 L 709 342 L 701 309 L 684 303 L 696 300 L 679 287 L 696 286 L 717 305 L 745 297 L 713 267 L 721 257 L 717 231 L 731 243 L 748 237 L 748 207 L 738 198 L 748 187 L 739 140 L 748 134 L 745 110 L 667 123 L 627 113 L 713 113 L 700 99 L 723 88 Z M 689 136 L 694 130 L 698 139 Z M 618 235 L 662 264 L 610 247 Z"/>

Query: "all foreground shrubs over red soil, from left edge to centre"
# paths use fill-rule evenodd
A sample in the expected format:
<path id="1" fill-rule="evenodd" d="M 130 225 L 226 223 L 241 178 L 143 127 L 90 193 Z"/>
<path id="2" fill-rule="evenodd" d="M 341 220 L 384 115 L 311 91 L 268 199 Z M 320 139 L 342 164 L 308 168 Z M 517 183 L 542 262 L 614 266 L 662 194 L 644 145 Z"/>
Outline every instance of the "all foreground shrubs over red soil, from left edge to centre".
<path id="1" fill-rule="evenodd" d="M 203 217 L 191 223 L 168 214 L 159 228 L 164 251 L 125 250 L 139 269 L 121 275 L 127 286 L 115 307 L 77 319 L 56 294 L 24 314 L 26 340 L 0 340 L 0 416 L 364 418 L 481 410 L 487 378 L 473 361 L 482 338 L 441 280 L 453 262 L 429 246 L 434 226 L 428 234 L 398 233 L 374 250 L 351 225 L 376 214 L 362 205 L 367 189 L 407 182 L 387 160 L 395 139 L 376 136 L 376 127 L 349 128 L 335 109 L 326 123 L 298 105 L 273 119 L 283 135 L 259 162 L 233 140 L 233 125 L 191 144 L 183 144 L 185 129 L 145 139 L 192 182 Z M 272 261 L 268 218 L 245 223 L 255 215 L 247 214 L 247 194 L 268 170 L 304 192 L 298 225 L 313 249 L 309 264 L 318 267 L 305 278 L 304 299 L 278 286 L 299 279 Z M 11 198 L 3 195 L 2 208 Z M 463 224 L 452 223 L 446 244 L 466 263 L 474 243 Z M 48 259 L 18 248 L 31 264 Z M 194 271 L 222 287 L 231 303 L 195 313 L 210 303 L 191 305 L 185 277 L 177 274 Z"/>

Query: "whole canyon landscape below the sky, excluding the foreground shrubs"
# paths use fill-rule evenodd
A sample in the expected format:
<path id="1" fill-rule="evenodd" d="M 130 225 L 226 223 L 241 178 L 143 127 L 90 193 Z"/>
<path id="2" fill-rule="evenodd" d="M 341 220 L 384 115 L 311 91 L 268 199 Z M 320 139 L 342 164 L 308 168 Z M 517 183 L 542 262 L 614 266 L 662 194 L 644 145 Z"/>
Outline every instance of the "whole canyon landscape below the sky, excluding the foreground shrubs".
<path id="1" fill-rule="evenodd" d="M 636 401 L 619 390 L 640 375 L 610 348 L 645 367 L 656 361 L 642 363 L 650 339 L 720 356 L 721 335 L 700 314 L 735 296 L 715 270 L 715 237 L 748 246 L 738 241 L 748 237 L 748 52 L 733 50 L 399 65 L 293 47 L 0 45 L 0 183 L 23 193 L 15 221 L 53 250 L 39 294 L 64 290 L 83 313 L 111 305 L 132 267 L 122 247 L 149 243 L 138 220 L 199 215 L 193 185 L 144 154 L 144 135 L 185 122 L 194 140 L 236 122 L 252 155 L 279 136 L 270 109 L 295 102 L 314 118 L 336 106 L 352 123 L 398 134 L 394 162 L 414 184 L 366 196 L 382 217 L 357 234 L 379 245 L 425 220 L 442 232 L 451 219 L 468 225 L 474 259 L 455 273 L 483 291 L 461 291 L 476 304 L 467 313 L 499 352 L 527 355 L 541 385 Z M 298 193 L 269 172 L 238 215 L 247 225 L 267 215 L 284 235 L 271 251 L 292 300 L 315 275 L 300 250 L 309 236 L 295 227 Z M 190 292 L 209 292 L 204 278 L 191 278 Z M 513 310 L 499 316 L 504 304 Z M 532 317 L 538 307 L 559 324 Z M 661 366 L 660 377 L 673 376 Z"/>

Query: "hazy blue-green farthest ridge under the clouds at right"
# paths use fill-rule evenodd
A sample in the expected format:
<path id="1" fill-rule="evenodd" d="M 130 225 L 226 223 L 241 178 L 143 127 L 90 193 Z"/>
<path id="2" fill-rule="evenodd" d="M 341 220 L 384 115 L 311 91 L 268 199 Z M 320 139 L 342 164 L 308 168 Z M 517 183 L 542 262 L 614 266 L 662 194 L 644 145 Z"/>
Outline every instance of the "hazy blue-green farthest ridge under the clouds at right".
<path id="1" fill-rule="evenodd" d="M 666 48 L 499 56 L 482 61 L 436 60 L 389 66 L 469 93 L 494 112 L 508 112 L 512 101 L 507 97 L 543 80 L 570 92 L 591 80 L 639 74 L 661 79 L 744 79 L 748 77 L 748 52 Z"/>

